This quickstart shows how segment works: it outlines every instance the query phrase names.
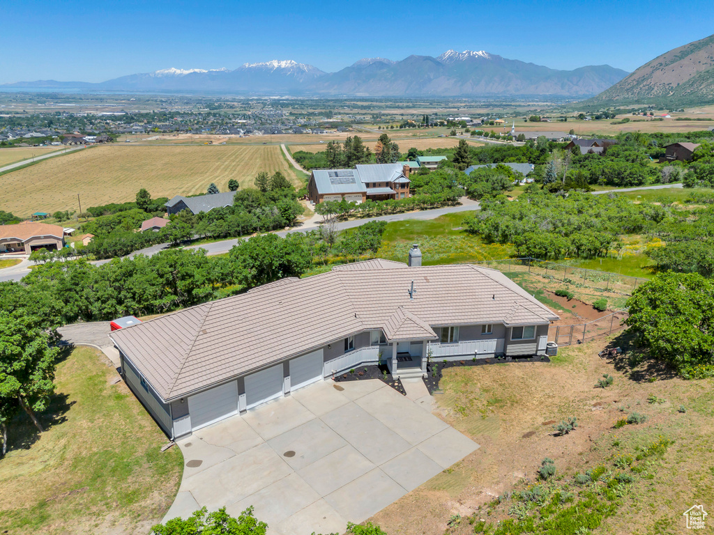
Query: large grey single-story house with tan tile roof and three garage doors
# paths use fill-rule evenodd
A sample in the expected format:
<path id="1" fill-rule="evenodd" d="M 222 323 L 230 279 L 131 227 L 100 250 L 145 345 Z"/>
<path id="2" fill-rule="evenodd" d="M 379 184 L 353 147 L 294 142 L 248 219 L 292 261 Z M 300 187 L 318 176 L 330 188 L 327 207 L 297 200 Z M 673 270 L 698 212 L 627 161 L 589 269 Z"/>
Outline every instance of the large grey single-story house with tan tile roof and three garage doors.
<path id="1" fill-rule="evenodd" d="M 427 361 L 545 355 L 558 316 L 478 265 L 366 260 L 111 333 L 121 374 L 181 437 L 363 365 L 422 377 Z M 306 303 L 309 303 L 306 306 Z"/>

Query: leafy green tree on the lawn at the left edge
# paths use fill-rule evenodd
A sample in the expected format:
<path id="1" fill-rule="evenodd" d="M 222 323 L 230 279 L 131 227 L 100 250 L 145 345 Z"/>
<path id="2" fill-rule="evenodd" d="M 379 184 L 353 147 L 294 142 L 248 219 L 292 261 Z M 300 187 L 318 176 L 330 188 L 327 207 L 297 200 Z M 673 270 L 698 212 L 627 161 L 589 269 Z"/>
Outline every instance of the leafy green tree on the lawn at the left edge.
<path id="1" fill-rule="evenodd" d="M 47 408 L 54 392 L 59 348 L 49 347 L 40 325 L 33 316 L 0 312 L 0 419 L 11 414 L 14 399 L 43 432 L 35 413 Z"/>

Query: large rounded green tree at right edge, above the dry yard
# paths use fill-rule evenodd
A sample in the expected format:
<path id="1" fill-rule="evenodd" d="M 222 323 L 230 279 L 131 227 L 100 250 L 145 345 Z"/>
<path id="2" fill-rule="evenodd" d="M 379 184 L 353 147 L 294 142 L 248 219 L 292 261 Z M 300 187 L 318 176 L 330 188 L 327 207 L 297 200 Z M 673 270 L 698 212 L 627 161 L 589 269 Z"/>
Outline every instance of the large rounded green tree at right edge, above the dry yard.
<path id="1" fill-rule="evenodd" d="M 697 273 L 660 273 L 627 302 L 629 332 L 653 357 L 683 371 L 714 364 L 714 284 Z"/>

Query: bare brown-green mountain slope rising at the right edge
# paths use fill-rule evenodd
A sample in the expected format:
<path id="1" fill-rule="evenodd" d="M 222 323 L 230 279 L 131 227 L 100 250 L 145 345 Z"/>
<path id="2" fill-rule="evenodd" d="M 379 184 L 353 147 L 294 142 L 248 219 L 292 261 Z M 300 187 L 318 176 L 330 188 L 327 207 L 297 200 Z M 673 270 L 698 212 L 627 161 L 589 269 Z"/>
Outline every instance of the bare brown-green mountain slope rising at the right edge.
<path id="1" fill-rule="evenodd" d="M 714 35 L 670 50 L 583 104 L 714 103 Z"/>

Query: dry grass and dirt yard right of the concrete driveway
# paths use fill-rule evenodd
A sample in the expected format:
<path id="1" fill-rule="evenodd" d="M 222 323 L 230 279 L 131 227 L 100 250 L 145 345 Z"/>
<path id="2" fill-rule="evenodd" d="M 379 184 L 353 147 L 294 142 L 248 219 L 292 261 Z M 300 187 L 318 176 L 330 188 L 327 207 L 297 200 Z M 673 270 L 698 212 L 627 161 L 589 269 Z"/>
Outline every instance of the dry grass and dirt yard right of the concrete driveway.
<path id="1" fill-rule="evenodd" d="M 554 460 L 558 481 L 567 481 L 590 466 L 612 467 L 618 455 L 634 456 L 643 444 L 665 436 L 675 447 L 645 462 L 646 471 L 616 502 L 617 513 L 588 532 L 683 533 L 683 511 L 713 495 L 714 381 L 684 381 L 632 355 L 603 360 L 598 352 L 607 342 L 561 348 L 550 363 L 446 370 L 436 414 L 481 448 L 372 520 L 390 535 L 470 534 L 471 521 L 496 525 L 509 518 L 511 502 L 496 508 L 493 500 L 532 488 L 545 457 Z M 613 384 L 595 388 L 603 374 L 611 374 Z M 653 396 L 656 402 L 648 402 Z M 680 406 L 688 410 L 678 412 Z M 616 420 L 633 411 L 648 421 L 614 429 Z M 577 418 L 577 429 L 555 436 L 553 424 L 568 417 Z"/>

